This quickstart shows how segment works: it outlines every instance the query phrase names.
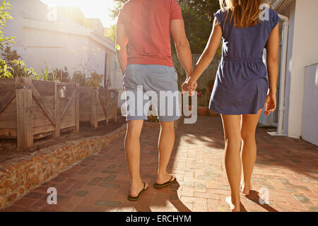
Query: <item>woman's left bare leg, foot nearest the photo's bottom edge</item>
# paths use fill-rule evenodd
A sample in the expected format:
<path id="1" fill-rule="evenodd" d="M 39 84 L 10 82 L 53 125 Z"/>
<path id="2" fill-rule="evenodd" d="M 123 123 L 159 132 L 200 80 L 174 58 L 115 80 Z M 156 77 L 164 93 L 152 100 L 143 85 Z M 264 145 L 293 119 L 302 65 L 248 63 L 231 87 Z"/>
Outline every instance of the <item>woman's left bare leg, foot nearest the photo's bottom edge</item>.
<path id="1" fill-rule="evenodd" d="M 240 179 L 242 162 L 240 157 L 240 115 L 222 115 L 225 137 L 225 169 L 231 189 L 227 198 L 233 212 L 240 212 Z"/>

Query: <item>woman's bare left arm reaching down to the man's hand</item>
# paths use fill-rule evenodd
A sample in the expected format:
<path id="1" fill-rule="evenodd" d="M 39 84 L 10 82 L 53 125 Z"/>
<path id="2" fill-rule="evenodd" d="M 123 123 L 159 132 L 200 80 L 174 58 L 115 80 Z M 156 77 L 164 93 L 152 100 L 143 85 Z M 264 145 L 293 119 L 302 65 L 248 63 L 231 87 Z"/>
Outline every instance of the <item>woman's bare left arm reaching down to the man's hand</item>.
<path id="1" fill-rule="evenodd" d="M 213 29 L 211 36 L 206 44 L 206 49 L 204 49 L 203 54 L 201 55 L 199 61 L 196 63 L 192 76 L 190 76 L 188 81 L 188 88 L 194 88 L 196 81 L 200 78 L 202 73 L 208 68 L 208 65 L 211 64 L 213 57 L 216 54 L 216 50 L 220 45 L 220 40 L 222 39 L 222 28 L 216 19 L 213 22 Z"/>

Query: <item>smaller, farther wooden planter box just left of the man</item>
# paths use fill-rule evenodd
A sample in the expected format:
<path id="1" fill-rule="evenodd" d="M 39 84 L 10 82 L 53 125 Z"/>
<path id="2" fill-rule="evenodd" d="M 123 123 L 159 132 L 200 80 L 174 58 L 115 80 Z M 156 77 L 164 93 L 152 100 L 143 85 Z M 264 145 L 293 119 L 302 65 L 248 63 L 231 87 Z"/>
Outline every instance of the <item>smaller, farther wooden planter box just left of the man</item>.
<path id="1" fill-rule="evenodd" d="M 94 129 L 98 121 L 117 121 L 118 90 L 80 87 L 80 121 L 90 121 Z"/>

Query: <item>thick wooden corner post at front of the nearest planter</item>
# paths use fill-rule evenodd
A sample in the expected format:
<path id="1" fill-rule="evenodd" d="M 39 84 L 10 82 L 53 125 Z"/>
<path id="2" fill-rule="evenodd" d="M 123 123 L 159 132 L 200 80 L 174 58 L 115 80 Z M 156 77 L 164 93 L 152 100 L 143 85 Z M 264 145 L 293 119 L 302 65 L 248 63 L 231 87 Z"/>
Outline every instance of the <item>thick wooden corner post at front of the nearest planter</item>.
<path id="1" fill-rule="evenodd" d="M 32 78 L 16 78 L 18 150 L 33 148 Z"/>

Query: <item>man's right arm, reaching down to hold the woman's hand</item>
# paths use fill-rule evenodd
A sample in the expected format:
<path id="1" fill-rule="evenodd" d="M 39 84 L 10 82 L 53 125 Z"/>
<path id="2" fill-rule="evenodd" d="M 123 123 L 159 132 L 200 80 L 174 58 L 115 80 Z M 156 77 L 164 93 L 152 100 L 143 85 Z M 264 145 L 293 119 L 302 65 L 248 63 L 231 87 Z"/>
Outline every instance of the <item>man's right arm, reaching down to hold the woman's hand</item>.
<path id="1" fill-rule="evenodd" d="M 171 20 L 170 32 L 173 40 L 175 40 L 175 48 L 177 49 L 179 61 L 187 73 L 187 78 L 189 78 L 193 71 L 192 53 L 184 30 L 183 20 Z"/>

